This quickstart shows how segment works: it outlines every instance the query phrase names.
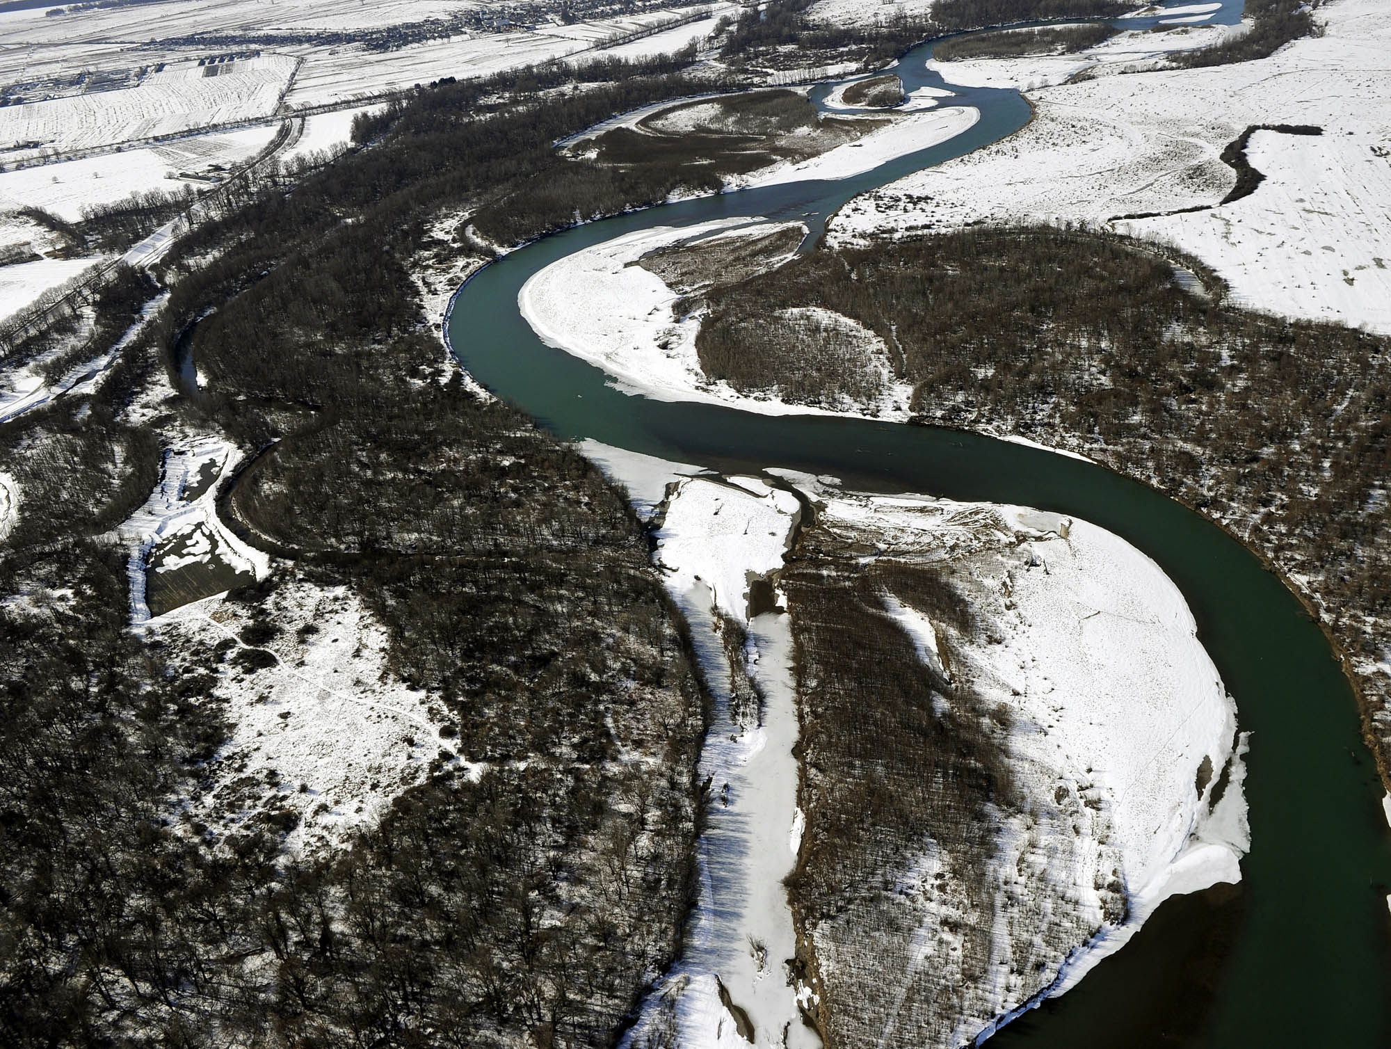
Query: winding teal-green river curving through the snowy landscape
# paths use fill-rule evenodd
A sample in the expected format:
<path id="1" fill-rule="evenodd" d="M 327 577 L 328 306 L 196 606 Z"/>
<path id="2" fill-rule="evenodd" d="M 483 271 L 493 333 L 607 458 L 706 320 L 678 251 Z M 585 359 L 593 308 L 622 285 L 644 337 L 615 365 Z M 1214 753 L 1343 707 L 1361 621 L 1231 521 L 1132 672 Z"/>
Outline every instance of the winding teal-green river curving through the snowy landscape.
<path id="1" fill-rule="evenodd" d="M 1231 21 L 1239 10 L 1227 6 L 1219 19 Z M 1237 540 L 1142 484 L 1024 445 L 630 397 L 608 385 L 602 371 L 544 345 L 517 312 L 527 278 L 590 245 L 647 227 L 746 216 L 798 218 L 819 232 L 850 198 L 1027 122 L 1029 109 L 1018 93 L 946 85 L 926 72 L 929 51 L 914 50 L 893 71 L 908 90 L 944 86 L 957 97 L 943 104 L 979 109 L 979 122 L 963 135 L 855 178 L 664 205 L 529 245 L 460 289 L 449 320 L 455 353 L 479 381 L 561 437 L 722 472 L 783 466 L 869 491 L 1032 505 L 1095 522 L 1143 550 L 1188 598 L 1237 698 L 1241 728 L 1252 733 L 1245 783 L 1252 849 L 1244 881 L 1164 903 L 1124 950 L 989 1045 L 1391 1045 L 1391 833 L 1376 767 L 1326 637 Z"/>

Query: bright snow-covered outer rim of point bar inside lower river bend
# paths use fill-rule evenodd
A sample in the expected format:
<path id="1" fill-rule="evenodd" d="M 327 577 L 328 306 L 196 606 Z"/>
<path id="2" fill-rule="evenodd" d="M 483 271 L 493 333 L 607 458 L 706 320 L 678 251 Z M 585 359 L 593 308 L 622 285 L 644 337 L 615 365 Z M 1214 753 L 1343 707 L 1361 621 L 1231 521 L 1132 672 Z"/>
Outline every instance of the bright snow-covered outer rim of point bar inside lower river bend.
<path id="1" fill-rule="evenodd" d="M 853 995 L 855 981 L 896 974 L 903 995 L 879 1018 L 885 1039 L 897 1028 L 921 1031 L 925 1045 L 967 1043 L 1040 991 L 1074 986 L 1168 896 L 1239 881 L 1238 860 L 1249 849 L 1245 740 L 1193 618 L 1157 565 L 1117 536 L 1054 513 L 855 495 L 786 476 L 815 498 L 818 527 L 860 537 L 860 548 L 878 550 L 874 556 L 931 561 L 968 595 L 982 625 L 974 636 L 893 594 L 883 601 L 924 662 L 982 710 L 1008 710 L 1004 754 L 1029 806 L 1028 814 L 1000 817 L 993 917 L 963 915 L 961 900 L 940 892 L 933 879 L 946 857 L 925 826 L 921 863 L 900 886 L 921 922 L 912 945 L 869 943 L 871 957 L 883 949 L 882 968 L 864 971 L 862 959 L 837 953 L 844 935 L 814 931 L 822 974 L 843 981 L 843 993 Z M 1227 785 L 1216 799 L 1223 769 Z M 1107 915 L 1103 889 L 1116 892 L 1117 883 L 1124 917 Z M 1060 914 L 1075 910 L 1079 928 L 1100 932 L 1056 950 L 1046 972 L 1018 972 L 1008 960 L 1038 957 L 1054 904 Z M 993 922 L 983 974 L 953 972 L 961 956 L 953 956 L 943 922 L 963 917 Z M 967 988 L 968 1014 L 950 1036 L 928 1038 L 933 996 L 907 995 L 918 979 Z"/>

